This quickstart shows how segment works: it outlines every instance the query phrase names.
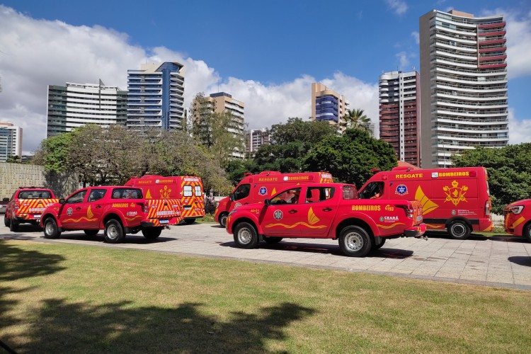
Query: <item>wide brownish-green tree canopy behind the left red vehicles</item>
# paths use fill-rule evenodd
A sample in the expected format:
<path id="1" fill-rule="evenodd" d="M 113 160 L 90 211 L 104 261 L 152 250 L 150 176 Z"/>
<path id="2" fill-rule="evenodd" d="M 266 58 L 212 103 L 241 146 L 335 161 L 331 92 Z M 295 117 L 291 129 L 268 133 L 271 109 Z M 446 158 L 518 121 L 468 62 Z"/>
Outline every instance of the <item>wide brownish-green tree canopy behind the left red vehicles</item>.
<path id="1" fill-rule="evenodd" d="M 120 125 L 85 125 L 42 141 L 35 164 L 46 171 L 76 171 L 81 183 L 122 184 L 131 176 L 196 175 L 205 190 L 228 193 L 232 186 L 219 162 L 181 131 L 127 130 Z"/>

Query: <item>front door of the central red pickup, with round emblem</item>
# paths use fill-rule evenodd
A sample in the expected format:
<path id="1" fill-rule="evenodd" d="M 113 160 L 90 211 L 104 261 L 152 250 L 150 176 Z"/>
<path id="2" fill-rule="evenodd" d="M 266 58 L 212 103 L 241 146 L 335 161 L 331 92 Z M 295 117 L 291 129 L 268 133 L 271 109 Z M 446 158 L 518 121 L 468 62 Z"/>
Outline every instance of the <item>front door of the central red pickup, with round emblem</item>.
<path id="1" fill-rule="evenodd" d="M 300 198 L 302 188 L 295 187 L 275 195 L 265 206 L 262 228 L 265 236 L 299 237 L 301 221 Z"/>

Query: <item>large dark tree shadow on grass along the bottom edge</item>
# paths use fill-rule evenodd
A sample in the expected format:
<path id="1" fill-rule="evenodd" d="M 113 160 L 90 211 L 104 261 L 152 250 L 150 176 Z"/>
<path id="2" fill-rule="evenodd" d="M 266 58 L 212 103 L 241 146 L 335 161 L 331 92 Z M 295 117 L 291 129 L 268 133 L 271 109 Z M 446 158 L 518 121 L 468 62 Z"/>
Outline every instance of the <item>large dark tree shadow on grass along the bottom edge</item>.
<path id="1" fill-rule="evenodd" d="M 28 341 L 15 348 L 40 353 L 264 353 L 285 327 L 314 310 L 283 303 L 258 314 L 233 312 L 219 321 L 204 304 L 176 308 L 132 307 L 130 302 L 91 306 L 48 299 L 35 314 Z M 14 341 L 14 338 L 6 338 Z"/>

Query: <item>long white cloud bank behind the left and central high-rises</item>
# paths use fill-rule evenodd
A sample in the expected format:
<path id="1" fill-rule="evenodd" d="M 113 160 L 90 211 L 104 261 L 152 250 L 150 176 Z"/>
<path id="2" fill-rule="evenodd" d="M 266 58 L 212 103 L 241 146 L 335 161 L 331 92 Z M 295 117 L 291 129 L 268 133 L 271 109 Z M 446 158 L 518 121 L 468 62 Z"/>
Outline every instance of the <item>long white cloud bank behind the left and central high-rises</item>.
<path id="1" fill-rule="evenodd" d="M 185 65 L 185 105 L 195 93 L 225 91 L 246 107 L 250 128 L 270 127 L 288 117 L 306 119 L 311 84 L 319 81 L 342 93 L 350 108 L 362 108 L 377 126 L 378 88 L 336 72 L 331 78 L 302 75 L 282 84 L 224 79 L 202 60 L 169 50 L 131 45 L 125 33 L 95 25 L 74 26 L 37 20 L 0 5 L 0 121 L 23 127 L 23 153 L 34 152 L 46 137 L 47 86 L 66 82 L 127 89 L 127 69 L 145 62 L 177 61 Z"/>

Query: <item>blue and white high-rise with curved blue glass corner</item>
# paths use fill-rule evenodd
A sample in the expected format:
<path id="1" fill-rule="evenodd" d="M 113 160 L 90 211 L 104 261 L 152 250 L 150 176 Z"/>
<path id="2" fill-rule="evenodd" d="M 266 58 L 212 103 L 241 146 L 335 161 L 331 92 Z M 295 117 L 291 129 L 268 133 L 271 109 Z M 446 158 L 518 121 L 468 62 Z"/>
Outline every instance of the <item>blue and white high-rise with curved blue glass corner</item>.
<path id="1" fill-rule="evenodd" d="M 183 129 L 184 69 L 178 62 L 127 70 L 127 127 Z"/>

